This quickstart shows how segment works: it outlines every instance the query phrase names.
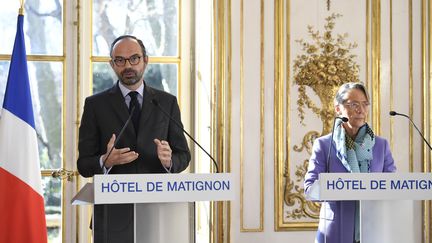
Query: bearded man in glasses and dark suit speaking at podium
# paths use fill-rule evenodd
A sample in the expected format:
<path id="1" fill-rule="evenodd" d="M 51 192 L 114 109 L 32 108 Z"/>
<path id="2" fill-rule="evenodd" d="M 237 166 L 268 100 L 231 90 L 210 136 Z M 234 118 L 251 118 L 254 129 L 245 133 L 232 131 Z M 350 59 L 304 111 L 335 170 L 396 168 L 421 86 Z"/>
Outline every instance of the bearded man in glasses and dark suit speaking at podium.
<path id="1" fill-rule="evenodd" d="M 186 139 L 161 111 L 181 124 L 177 99 L 145 84 L 148 56 L 144 44 L 134 36 L 120 36 L 111 44 L 110 55 L 118 81 L 85 101 L 79 129 L 79 173 L 92 177 L 183 171 L 191 158 Z M 131 122 L 113 148 L 130 112 L 134 113 Z M 94 242 L 133 242 L 133 205 L 97 205 L 94 219 Z"/>

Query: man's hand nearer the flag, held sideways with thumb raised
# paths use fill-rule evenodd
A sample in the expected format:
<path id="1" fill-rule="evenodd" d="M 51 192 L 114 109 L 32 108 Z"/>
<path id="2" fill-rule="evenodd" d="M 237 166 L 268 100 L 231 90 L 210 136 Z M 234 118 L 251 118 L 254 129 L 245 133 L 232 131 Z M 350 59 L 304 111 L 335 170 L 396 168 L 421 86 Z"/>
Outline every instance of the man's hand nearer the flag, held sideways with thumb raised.
<path id="1" fill-rule="evenodd" d="M 127 164 L 138 158 L 138 153 L 135 151 L 130 151 L 130 148 L 113 148 L 111 154 L 108 156 L 109 151 L 114 146 L 114 141 L 116 139 L 115 134 L 111 136 L 110 141 L 107 144 L 107 152 L 102 155 L 102 161 L 105 161 L 105 167 L 110 168 L 114 165 Z M 108 159 L 106 158 L 108 156 Z"/>

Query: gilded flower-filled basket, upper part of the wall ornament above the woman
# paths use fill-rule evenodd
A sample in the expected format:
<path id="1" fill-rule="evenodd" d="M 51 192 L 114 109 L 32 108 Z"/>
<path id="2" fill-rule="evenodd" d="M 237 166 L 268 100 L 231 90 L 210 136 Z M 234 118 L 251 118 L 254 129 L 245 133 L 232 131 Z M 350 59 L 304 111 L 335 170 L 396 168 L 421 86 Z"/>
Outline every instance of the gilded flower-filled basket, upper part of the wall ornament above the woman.
<path id="1" fill-rule="evenodd" d="M 332 14 L 327 17 L 322 35 L 312 26 L 308 26 L 308 33 L 313 40 L 311 43 L 302 39 L 296 40 L 304 51 L 304 54 L 297 55 L 293 62 L 294 85 L 298 85 L 299 93 L 297 110 L 303 125 L 306 107 L 321 118 L 321 135 L 330 132 L 334 117 L 333 98 L 337 88 L 347 82 L 359 82 L 359 65 L 354 61 L 356 55 L 350 53 L 357 44 L 345 41 L 347 33 L 332 33 L 335 20 L 341 16 Z M 307 96 L 306 86 L 319 97 L 321 107 Z"/>

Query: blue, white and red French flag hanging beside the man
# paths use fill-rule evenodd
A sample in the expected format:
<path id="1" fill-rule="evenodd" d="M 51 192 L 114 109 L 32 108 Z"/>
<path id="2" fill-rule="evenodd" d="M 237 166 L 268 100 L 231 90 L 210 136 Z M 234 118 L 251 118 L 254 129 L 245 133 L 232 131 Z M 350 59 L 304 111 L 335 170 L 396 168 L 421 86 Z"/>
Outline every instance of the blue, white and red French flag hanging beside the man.
<path id="1" fill-rule="evenodd" d="M 0 242 L 46 243 L 44 197 L 23 21 L 20 13 L 0 111 Z"/>

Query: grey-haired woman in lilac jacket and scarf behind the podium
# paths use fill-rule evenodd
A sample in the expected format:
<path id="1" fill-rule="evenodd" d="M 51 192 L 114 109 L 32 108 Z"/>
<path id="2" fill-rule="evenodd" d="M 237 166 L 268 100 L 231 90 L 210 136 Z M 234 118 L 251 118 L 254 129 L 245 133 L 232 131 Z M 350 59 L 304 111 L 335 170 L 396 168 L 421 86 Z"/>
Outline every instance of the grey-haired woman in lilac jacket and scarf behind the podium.
<path id="1" fill-rule="evenodd" d="M 343 84 L 336 93 L 334 104 L 337 116 L 346 117 L 348 121 L 336 120 L 333 141 L 330 141 L 331 134 L 314 141 L 304 182 L 308 198 L 312 198 L 312 186 L 320 173 L 396 171 L 388 142 L 375 136 L 366 123 L 370 103 L 363 84 Z M 331 151 L 330 142 L 333 143 Z M 358 201 L 323 202 L 315 242 L 360 242 Z"/>

